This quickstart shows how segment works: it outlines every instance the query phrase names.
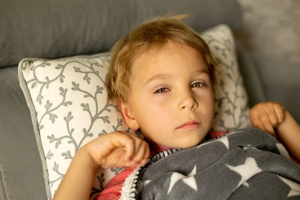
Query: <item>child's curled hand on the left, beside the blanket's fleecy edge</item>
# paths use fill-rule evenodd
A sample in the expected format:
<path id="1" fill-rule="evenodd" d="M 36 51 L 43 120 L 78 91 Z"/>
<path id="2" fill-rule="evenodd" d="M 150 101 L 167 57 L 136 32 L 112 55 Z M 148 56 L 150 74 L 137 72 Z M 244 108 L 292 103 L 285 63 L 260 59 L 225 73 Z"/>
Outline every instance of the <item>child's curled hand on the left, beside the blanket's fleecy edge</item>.
<path id="1" fill-rule="evenodd" d="M 147 142 L 124 131 L 103 134 L 82 148 L 90 154 L 98 168 L 138 167 L 150 157 Z"/>

